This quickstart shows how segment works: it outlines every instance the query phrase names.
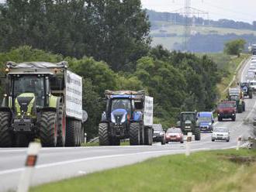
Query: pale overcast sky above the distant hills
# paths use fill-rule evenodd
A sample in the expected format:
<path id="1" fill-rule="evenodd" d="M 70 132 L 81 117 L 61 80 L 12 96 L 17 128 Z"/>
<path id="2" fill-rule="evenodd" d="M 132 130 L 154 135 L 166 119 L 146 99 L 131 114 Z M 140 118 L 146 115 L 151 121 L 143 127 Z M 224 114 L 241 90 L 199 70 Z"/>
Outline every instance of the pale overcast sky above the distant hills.
<path id="1" fill-rule="evenodd" d="M 171 12 L 184 7 L 185 0 L 141 0 L 143 8 Z M 191 0 L 191 7 L 209 12 L 209 19 L 256 21 L 256 0 Z"/>

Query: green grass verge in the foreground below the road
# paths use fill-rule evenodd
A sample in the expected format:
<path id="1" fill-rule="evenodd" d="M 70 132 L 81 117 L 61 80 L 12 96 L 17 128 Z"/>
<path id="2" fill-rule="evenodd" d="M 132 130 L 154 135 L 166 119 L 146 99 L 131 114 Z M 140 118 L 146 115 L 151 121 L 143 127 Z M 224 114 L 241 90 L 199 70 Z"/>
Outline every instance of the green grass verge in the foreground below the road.
<path id="1" fill-rule="evenodd" d="M 256 158 L 256 150 L 214 150 L 161 156 L 143 163 L 86 176 L 47 183 L 30 191 L 254 191 L 252 164 L 234 163 L 229 157 Z"/>

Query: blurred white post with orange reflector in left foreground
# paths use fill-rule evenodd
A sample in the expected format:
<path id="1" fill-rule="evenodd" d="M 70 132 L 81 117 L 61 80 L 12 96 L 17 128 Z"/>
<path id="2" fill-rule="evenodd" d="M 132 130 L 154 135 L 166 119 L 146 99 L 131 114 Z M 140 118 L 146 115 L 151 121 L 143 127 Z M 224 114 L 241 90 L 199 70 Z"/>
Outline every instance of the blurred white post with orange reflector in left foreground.
<path id="1" fill-rule="evenodd" d="M 23 170 L 22 175 L 19 180 L 17 192 L 27 192 L 29 191 L 29 183 L 33 175 L 33 170 L 36 166 L 37 155 L 39 149 L 41 148 L 40 142 L 30 142 L 29 148 L 26 156 L 25 170 Z"/>

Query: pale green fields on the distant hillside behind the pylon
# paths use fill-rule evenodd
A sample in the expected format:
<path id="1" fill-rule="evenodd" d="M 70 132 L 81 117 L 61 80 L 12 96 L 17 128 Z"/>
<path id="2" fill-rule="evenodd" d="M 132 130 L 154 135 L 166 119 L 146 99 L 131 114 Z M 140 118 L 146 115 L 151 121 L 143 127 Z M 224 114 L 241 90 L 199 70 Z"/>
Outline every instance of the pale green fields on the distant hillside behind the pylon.
<path id="1" fill-rule="evenodd" d="M 173 25 L 170 22 L 152 22 L 152 26 L 157 26 L 159 29 L 151 29 L 150 35 L 152 37 L 152 46 L 158 44 L 163 45 L 168 50 L 172 50 L 175 43 L 182 43 L 183 38 L 183 26 Z M 162 32 L 164 31 L 164 33 Z M 230 29 L 212 26 L 192 26 L 192 32 L 204 34 L 216 34 L 225 35 L 228 33 L 234 33 L 236 35 L 243 34 L 254 34 L 256 36 L 256 31 L 248 29 Z M 176 33 L 177 36 L 167 36 L 167 37 L 156 37 L 159 34 Z"/>

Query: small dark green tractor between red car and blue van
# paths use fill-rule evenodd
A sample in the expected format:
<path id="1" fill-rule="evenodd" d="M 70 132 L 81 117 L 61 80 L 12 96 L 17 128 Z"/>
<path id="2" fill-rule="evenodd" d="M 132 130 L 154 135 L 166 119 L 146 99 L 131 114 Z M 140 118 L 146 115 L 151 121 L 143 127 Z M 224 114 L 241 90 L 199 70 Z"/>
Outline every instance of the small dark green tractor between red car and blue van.
<path id="1" fill-rule="evenodd" d="M 183 111 L 178 115 L 177 127 L 182 129 L 184 135 L 192 132 L 195 135 L 195 140 L 201 139 L 201 132 L 199 129 L 199 122 L 196 111 Z"/>

